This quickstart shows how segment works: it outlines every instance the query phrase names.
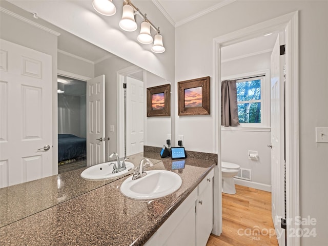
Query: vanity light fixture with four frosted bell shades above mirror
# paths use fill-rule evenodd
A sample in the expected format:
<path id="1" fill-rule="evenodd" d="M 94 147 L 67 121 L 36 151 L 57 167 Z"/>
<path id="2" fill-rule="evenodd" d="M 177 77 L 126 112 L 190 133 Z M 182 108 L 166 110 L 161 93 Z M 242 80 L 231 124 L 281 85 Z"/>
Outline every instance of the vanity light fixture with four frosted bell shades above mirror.
<path id="1" fill-rule="evenodd" d="M 93 0 L 92 6 L 98 13 L 103 15 L 110 16 L 116 13 L 116 8 L 112 0 Z M 122 18 L 119 21 L 119 27 L 122 30 L 128 32 L 133 32 L 137 30 L 138 24 L 136 22 L 136 17 L 135 17 L 136 15 L 139 15 L 143 19 L 143 22 L 141 23 L 140 26 L 140 34 L 137 36 L 138 42 L 144 45 L 148 45 L 151 44 L 154 40 L 154 44 L 151 50 L 154 53 L 165 52 L 165 47 L 163 46 L 163 37 L 159 33 L 159 28 L 156 28 L 146 17 L 147 14 L 141 13 L 141 11 L 136 6 L 134 6 L 130 0 L 123 1 Z M 151 35 L 150 28 L 156 31 L 156 35 L 154 36 L 154 38 Z"/>

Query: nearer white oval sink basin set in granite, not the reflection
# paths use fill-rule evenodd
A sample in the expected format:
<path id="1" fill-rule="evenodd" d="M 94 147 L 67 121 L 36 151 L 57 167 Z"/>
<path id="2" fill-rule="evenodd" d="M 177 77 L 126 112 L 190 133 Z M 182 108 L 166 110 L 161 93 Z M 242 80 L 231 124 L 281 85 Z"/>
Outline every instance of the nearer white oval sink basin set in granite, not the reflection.
<path id="1" fill-rule="evenodd" d="M 181 184 L 182 179 L 178 174 L 166 170 L 153 170 L 147 171 L 145 177 L 136 180 L 132 180 L 132 176 L 128 177 L 120 190 L 125 196 L 133 199 L 151 200 L 172 194 Z"/>

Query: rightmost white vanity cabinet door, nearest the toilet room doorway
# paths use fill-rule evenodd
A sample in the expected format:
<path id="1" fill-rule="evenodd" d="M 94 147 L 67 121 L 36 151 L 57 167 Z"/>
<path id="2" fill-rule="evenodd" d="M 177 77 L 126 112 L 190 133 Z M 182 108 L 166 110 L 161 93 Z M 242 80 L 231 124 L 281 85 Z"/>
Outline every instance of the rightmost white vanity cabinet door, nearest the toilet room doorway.
<path id="1" fill-rule="evenodd" d="M 205 246 L 213 228 L 213 179 L 206 177 L 206 187 L 196 201 L 196 245 Z"/>

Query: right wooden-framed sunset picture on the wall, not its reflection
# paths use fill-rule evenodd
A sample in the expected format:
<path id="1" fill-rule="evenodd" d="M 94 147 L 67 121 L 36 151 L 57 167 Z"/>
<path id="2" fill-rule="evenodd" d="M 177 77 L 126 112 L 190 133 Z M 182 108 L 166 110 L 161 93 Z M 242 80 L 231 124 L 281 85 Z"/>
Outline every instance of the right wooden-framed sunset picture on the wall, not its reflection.
<path id="1" fill-rule="evenodd" d="M 210 76 L 178 82 L 178 115 L 210 112 Z"/>

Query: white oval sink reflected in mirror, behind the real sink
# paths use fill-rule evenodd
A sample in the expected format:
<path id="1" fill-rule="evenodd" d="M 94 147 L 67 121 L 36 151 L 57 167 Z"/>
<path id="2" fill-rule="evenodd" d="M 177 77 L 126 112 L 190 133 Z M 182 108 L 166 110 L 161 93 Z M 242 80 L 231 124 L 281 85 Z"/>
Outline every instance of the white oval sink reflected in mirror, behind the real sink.
<path id="1" fill-rule="evenodd" d="M 81 173 L 81 177 L 91 180 L 110 179 L 127 174 L 130 168 L 134 168 L 133 163 L 125 161 L 127 169 L 118 173 L 113 173 L 114 165 L 110 165 L 110 163 L 115 163 L 116 165 L 117 161 L 109 161 L 91 166 Z"/>

